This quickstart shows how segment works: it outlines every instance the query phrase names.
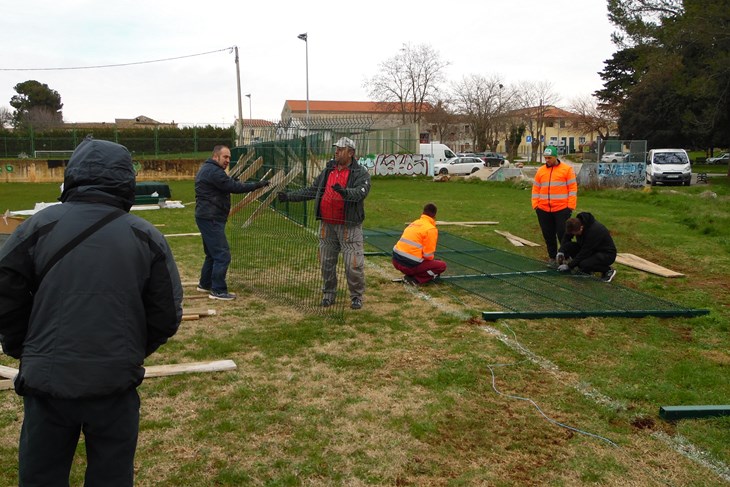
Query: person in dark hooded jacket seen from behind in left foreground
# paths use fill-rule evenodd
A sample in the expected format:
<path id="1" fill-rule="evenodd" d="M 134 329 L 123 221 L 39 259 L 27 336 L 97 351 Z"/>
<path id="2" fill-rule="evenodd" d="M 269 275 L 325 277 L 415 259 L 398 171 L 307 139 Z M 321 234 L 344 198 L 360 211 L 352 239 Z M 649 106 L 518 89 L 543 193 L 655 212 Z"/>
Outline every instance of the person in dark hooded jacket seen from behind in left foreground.
<path id="1" fill-rule="evenodd" d="M 19 485 L 68 485 L 83 431 L 85 485 L 133 485 L 145 357 L 175 334 L 182 286 L 165 238 L 130 215 L 129 151 L 86 138 L 60 205 L 0 248 L 0 343 L 20 359 Z"/>

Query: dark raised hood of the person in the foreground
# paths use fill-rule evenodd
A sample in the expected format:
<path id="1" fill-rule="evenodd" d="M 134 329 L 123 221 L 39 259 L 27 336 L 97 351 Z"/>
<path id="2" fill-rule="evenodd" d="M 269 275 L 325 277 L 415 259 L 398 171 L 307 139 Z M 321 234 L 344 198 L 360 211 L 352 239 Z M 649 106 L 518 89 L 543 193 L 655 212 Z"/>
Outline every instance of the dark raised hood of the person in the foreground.
<path id="1" fill-rule="evenodd" d="M 63 178 L 61 201 L 99 195 L 125 210 L 134 204 L 135 174 L 132 155 L 123 145 L 86 137 L 71 154 Z"/>

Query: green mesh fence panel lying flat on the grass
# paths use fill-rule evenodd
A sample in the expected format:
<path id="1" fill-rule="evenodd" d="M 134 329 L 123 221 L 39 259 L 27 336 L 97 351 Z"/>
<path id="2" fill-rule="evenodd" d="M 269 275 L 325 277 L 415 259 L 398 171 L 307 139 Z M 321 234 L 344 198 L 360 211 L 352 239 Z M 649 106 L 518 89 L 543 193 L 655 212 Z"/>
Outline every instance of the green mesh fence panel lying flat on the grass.
<path id="1" fill-rule="evenodd" d="M 365 243 L 390 256 L 401 232 L 368 230 Z M 697 316 L 707 310 L 688 309 L 655 296 L 586 274 L 565 274 L 545 263 L 439 232 L 438 258 L 447 263 L 443 282 L 486 301 L 482 316 L 546 318 L 587 316 Z"/>

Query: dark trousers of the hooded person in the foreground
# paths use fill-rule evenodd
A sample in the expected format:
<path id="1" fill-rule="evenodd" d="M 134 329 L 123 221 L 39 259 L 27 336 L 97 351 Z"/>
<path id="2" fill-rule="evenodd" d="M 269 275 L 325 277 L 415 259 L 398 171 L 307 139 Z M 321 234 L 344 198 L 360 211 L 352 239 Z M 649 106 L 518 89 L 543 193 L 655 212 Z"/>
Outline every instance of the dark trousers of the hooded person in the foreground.
<path id="1" fill-rule="evenodd" d="M 19 486 L 67 487 L 82 431 L 87 462 L 84 486 L 134 484 L 139 433 L 137 389 L 95 399 L 23 396 L 23 404 Z"/>

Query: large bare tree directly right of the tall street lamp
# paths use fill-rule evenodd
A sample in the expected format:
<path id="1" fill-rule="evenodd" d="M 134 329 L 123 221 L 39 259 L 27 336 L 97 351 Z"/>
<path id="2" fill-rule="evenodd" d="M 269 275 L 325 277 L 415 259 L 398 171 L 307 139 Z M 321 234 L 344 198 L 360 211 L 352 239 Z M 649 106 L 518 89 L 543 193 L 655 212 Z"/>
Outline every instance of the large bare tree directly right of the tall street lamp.
<path id="1" fill-rule="evenodd" d="M 438 99 L 448 62 L 428 44 L 403 44 L 398 54 L 379 65 L 378 74 L 363 86 L 384 111 L 399 112 L 403 122 L 420 122 Z"/>

